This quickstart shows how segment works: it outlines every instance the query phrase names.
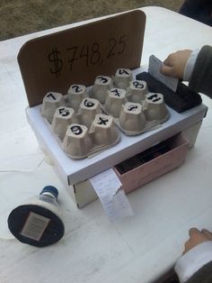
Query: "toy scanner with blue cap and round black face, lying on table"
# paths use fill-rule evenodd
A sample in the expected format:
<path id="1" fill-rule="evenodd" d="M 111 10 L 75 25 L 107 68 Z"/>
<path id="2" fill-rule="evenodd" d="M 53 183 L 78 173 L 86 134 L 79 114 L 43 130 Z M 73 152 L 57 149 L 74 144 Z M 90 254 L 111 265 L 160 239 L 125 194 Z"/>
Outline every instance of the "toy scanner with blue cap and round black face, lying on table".
<path id="1" fill-rule="evenodd" d="M 14 208 L 7 219 L 13 236 L 20 242 L 37 247 L 58 242 L 65 228 L 57 196 L 57 188 L 47 186 L 42 189 L 40 196 Z"/>

